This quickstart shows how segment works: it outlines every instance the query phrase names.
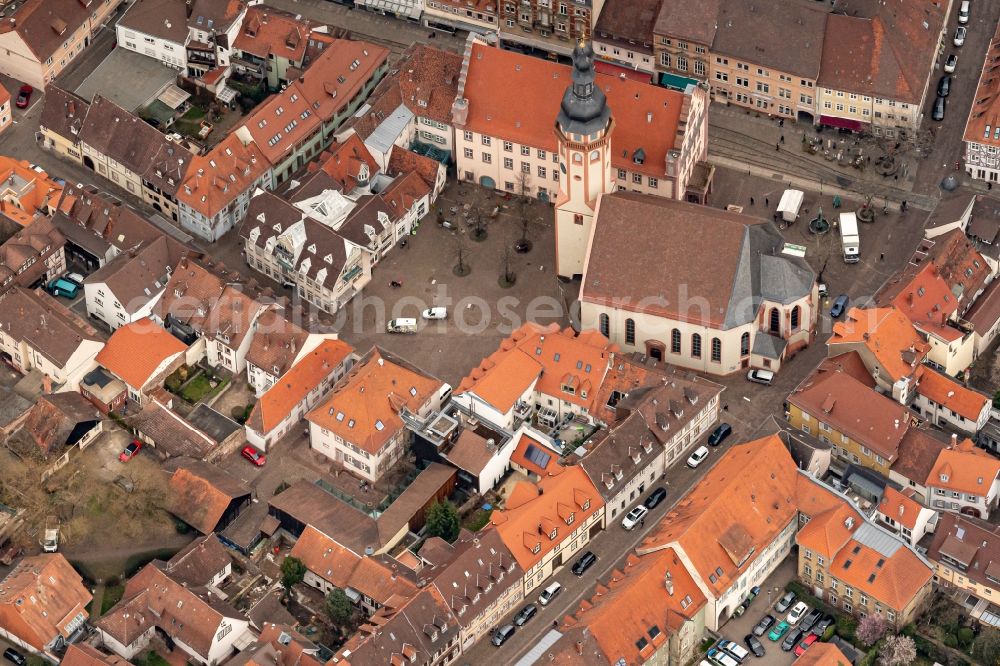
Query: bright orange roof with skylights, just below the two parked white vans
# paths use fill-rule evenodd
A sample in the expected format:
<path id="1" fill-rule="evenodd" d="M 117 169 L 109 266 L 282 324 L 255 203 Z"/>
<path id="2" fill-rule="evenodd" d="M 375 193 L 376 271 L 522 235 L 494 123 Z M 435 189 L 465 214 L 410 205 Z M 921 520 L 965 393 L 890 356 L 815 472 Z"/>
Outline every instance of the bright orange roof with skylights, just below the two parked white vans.
<path id="1" fill-rule="evenodd" d="M 377 454 L 405 427 L 400 412 L 419 412 L 443 387 L 441 380 L 373 347 L 306 420 Z"/>

